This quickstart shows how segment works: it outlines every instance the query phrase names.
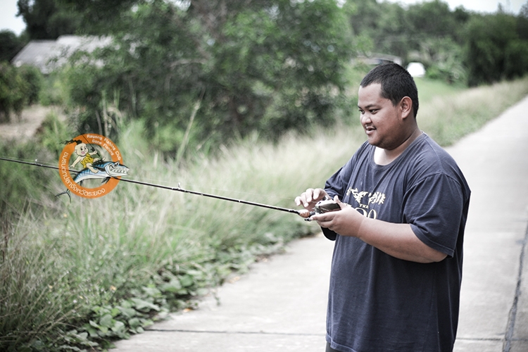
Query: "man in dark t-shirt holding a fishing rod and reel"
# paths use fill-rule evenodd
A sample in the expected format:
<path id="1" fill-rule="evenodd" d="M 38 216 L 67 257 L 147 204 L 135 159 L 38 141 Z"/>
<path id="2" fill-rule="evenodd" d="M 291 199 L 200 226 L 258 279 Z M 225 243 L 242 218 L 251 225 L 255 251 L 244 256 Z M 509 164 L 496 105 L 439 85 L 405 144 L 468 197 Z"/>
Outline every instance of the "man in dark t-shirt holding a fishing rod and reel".
<path id="1" fill-rule="evenodd" d="M 396 64 L 360 84 L 365 142 L 325 189 L 340 209 L 315 214 L 335 240 L 327 351 L 452 351 L 470 189 L 453 158 L 417 125 L 417 88 Z"/>

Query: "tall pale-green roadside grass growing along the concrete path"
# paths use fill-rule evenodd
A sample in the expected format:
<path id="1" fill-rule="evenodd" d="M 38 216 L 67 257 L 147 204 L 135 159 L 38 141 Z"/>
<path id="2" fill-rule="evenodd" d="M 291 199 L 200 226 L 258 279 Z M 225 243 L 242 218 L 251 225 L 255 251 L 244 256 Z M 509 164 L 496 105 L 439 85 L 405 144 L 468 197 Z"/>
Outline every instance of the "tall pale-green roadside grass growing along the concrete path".
<path id="1" fill-rule="evenodd" d="M 422 100 L 420 126 L 444 145 L 528 94 L 526 79 L 461 90 L 422 83 L 420 94 L 431 98 Z M 435 92 L 443 95 L 432 98 Z M 65 139 L 68 132 L 49 125 L 42 141 Z M 289 134 L 277 144 L 253 136 L 185 167 L 151 151 L 139 122 L 123 131 L 118 146 L 130 179 L 295 208 L 296 195 L 321 187 L 365 140 L 358 125 L 314 137 Z M 20 148 L 1 151 L 32 159 L 39 150 Z M 41 163 L 55 165 L 56 158 L 56 151 L 39 153 Z M 24 167 L 33 172 L 17 166 L 23 180 Z M 0 175 L 10 172 L 0 161 Z M 171 310 L 193 308 L 197 296 L 214 294 L 233 272 L 318 230 L 293 214 L 126 182 L 108 196 L 69 203 L 53 198 L 63 190 L 54 170 L 39 169 L 24 182 L 28 189 L 34 184 L 32 193 L 14 186 L 5 188 L 15 194 L 0 192 L 3 201 L 20 199 L 1 232 L 2 351 L 108 348 Z"/>

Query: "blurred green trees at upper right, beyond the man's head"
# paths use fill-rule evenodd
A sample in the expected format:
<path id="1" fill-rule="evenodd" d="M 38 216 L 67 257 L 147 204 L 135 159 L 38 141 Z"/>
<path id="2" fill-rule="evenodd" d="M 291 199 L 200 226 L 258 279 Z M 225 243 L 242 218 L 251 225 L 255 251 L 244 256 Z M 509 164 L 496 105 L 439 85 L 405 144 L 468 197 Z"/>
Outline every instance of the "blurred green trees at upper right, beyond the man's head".
<path id="1" fill-rule="evenodd" d="M 471 85 L 528 72 L 528 2 L 515 16 L 501 7 L 482 15 L 451 11 L 441 0 L 403 8 L 376 0 L 348 0 L 356 7 L 351 26 L 372 39 L 372 50 L 404 62 L 420 61 L 430 77 Z"/>

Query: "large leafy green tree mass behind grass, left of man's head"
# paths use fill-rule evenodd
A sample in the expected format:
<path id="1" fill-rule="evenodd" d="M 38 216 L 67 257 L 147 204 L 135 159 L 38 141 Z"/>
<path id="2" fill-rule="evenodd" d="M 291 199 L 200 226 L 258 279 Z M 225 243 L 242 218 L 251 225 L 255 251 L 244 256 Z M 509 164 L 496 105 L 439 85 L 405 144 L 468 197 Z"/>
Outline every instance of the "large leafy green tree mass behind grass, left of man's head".
<path id="1" fill-rule="evenodd" d="M 102 126 L 111 103 L 144 120 L 156 146 L 176 151 L 189 139 L 207 149 L 335 118 L 353 46 L 334 0 L 155 0 L 119 17 L 108 27 L 114 44 L 95 54 L 104 65 L 75 57 L 72 98 L 83 124 Z"/>

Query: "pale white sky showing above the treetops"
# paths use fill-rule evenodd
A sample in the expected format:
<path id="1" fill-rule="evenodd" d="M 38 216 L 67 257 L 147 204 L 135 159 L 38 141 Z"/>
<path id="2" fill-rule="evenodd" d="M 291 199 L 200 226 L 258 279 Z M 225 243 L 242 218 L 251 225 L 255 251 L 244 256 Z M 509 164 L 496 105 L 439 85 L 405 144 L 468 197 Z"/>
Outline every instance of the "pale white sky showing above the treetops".
<path id="1" fill-rule="evenodd" d="M 379 1 L 379 0 L 378 0 Z M 398 2 L 402 5 L 416 4 L 422 0 L 387 0 Z M 509 13 L 519 13 L 520 8 L 528 0 L 442 0 L 449 4 L 449 8 L 454 10 L 458 6 L 464 6 L 466 10 L 493 13 L 497 10 L 498 4 L 502 4 L 505 11 Z M 17 0 L 0 0 L 0 30 L 12 30 L 15 34 L 20 34 L 25 29 L 25 23 L 21 17 L 16 17 L 18 8 Z"/>

